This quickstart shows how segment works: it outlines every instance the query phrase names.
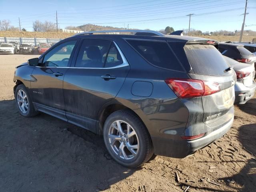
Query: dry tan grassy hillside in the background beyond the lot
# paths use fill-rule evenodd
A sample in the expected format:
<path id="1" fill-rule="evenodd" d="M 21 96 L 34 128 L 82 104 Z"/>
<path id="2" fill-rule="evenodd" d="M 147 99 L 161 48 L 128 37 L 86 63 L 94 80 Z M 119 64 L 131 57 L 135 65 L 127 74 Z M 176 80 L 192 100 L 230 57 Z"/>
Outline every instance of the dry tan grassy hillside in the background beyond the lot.
<path id="1" fill-rule="evenodd" d="M 96 28 L 94 30 L 107 30 L 106 28 Z M 116 30 L 116 29 L 108 29 Z M 31 37 L 31 38 L 68 38 L 74 35 L 74 33 L 62 33 L 62 32 L 20 32 L 20 31 L 0 31 L 0 37 Z M 239 36 L 198 36 L 202 38 L 214 39 L 217 41 L 238 41 Z M 243 41 L 252 41 L 256 36 L 244 36 Z"/>

